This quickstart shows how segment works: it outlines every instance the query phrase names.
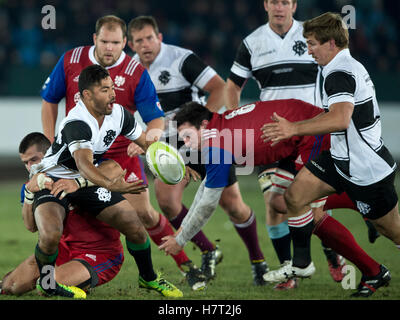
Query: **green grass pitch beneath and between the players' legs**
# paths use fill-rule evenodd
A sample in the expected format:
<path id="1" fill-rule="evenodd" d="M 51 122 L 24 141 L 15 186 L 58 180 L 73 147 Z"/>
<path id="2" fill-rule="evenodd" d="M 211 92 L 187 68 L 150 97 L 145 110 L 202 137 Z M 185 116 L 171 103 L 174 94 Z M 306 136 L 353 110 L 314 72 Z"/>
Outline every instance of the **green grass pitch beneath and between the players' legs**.
<path id="1" fill-rule="evenodd" d="M 279 266 L 272 244 L 265 228 L 264 202 L 255 176 L 239 176 L 243 198 L 257 215 L 258 236 L 262 250 L 270 268 Z M 397 190 L 400 179 L 397 177 Z M 0 278 L 34 252 L 37 234 L 28 232 L 21 218 L 19 190 L 22 182 L 0 184 Z M 198 184 L 191 183 L 185 191 L 184 202 L 190 205 Z M 154 189 L 150 181 L 151 201 L 158 209 Z M 392 281 L 387 288 L 381 288 L 371 298 L 373 300 L 398 300 L 400 298 L 400 252 L 394 244 L 384 237 L 370 244 L 367 228 L 360 214 L 350 210 L 335 210 L 333 216 L 343 223 L 355 236 L 361 247 L 378 262 L 385 264 L 392 273 Z M 154 266 L 162 271 L 165 278 L 176 284 L 184 293 L 185 300 L 348 300 L 352 290 L 344 289 L 330 277 L 328 265 L 317 237 L 312 239 L 312 258 L 317 271 L 312 279 L 300 281 L 296 290 L 277 292 L 272 286 L 255 287 L 252 284 L 251 268 L 247 250 L 236 233 L 227 215 L 220 209 L 214 213 L 203 229 L 210 240 L 216 241 L 224 254 L 217 266 L 217 277 L 209 283 L 206 290 L 194 292 L 185 283 L 172 258 L 152 244 Z M 124 241 L 123 241 L 124 243 Z M 125 246 L 125 243 L 124 243 Z M 200 251 L 189 243 L 185 250 L 188 256 L 200 265 Z M 138 272 L 133 258 L 125 250 L 125 262 L 117 277 L 89 295 L 88 300 L 167 300 L 156 292 L 138 288 Z M 348 262 L 349 265 L 351 263 Z M 356 272 L 356 284 L 361 274 Z M 0 295 L 0 300 L 44 299 L 36 292 L 21 297 Z M 2 301 L 4 302 L 4 301 Z M 9 301 L 11 303 L 11 301 Z M 145 303 L 143 301 L 143 303 Z"/>

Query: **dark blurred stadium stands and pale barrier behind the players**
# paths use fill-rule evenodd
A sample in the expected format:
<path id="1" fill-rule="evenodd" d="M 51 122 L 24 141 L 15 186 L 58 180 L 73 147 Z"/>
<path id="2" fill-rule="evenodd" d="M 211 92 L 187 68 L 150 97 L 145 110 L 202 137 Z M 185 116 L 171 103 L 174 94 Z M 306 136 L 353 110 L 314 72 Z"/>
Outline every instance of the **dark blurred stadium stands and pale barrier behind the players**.
<path id="1" fill-rule="evenodd" d="M 55 30 L 44 30 L 41 27 L 41 20 L 45 16 L 41 9 L 48 4 L 56 9 Z M 383 136 L 398 162 L 400 2 L 298 0 L 295 18 L 305 20 L 325 11 L 341 12 L 345 5 L 354 6 L 356 12 L 356 28 L 350 30 L 351 52 L 370 72 L 381 107 Z M 18 193 L 20 182 L 26 178 L 25 169 L 18 159 L 18 144 L 27 133 L 41 131 L 39 91 L 43 82 L 65 51 L 76 46 L 92 44 L 95 21 L 106 14 L 118 15 L 127 23 L 137 15 L 155 16 L 164 42 L 192 49 L 224 79 L 229 74 L 240 41 L 267 20 L 262 0 L 0 0 L 0 199 L 3 202 L 4 197 L 9 195 L 7 191 Z M 242 102 L 255 101 L 258 97 L 256 83 L 249 81 L 243 92 Z M 63 109 L 64 105 L 61 102 L 59 118 L 64 114 Z M 396 181 L 398 186 L 399 177 Z M 245 180 L 242 187 L 246 190 L 244 198 L 251 201 L 254 193 L 254 197 L 258 197 L 256 201 L 262 203 L 258 190 L 252 191 L 251 188 L 258 189 L 256 180 Z M 192 188 L 192 192 L 194 190 Z M 4 232 L 3 228 L 7 228 L 4 227 L 7 226 L 5 221 L 9 219 L 6 218 L 5 211 L 13 208 L 12 210 L 18 213 L 15 199 L 0 206 L 0 215 L 3 216 L 0 217 L 0 233 L 8 245 L 16 245 L 16 242 L 12 239 L 13 227 Z M 261 212 L 261 219 L 262 214 Z M 263 228 L 264 221 L 260 222 L 260 228 Z M 354 224 L 358 222 L 357 220 Z M 226 223 L 224 228 L 231 228 L 229 222 Z M 264 238 L 265 230 L 262 230 Z M 361 232 L 364 232 L 365 238 L 365 230 L 362 229 Z M 237 243 L 239 240 L 236 238 Z M 269 242 L 265 242 L 267 243 L 271 247 Z M 365 241 L 364 244 L 368 245 Z M 3 246 L 0 237 L 0 250 L 7 250 Z M 391 247 L 390 243 L 388 247 Z M 20 246 L 15 248 L 18 251 Z M 270 254 L 273 255 L 272 251 Z M 16 261 L 20 261 L 20 258 L 17 257 Z M 0 261 L 0 269 L 1 267 Z M 229 291 L 228 287 L 225 291 Z M 233 291 L 235 289 L 232 289 L 232 296 Z M 396 297 L 399 296 L 400 294 L 397 294 Z M 255 297 L 258 298 L 257 295 Z M 317 295 L 315 298 L 322 297 Z"/>

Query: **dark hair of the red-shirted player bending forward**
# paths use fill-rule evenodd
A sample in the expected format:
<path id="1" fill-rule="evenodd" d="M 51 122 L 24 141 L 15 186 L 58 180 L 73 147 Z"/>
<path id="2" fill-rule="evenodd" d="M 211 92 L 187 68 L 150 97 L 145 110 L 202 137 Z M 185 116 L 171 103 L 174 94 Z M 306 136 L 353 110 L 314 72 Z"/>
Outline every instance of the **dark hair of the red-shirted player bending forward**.
<path id="1" fill-rule="evenodd" d="M 181 106 L 179 111 L 175 114 L 174 120 L 176 126 L 179 127 L 185 122 L 200 129 L 203 120 L 210 120 L 213 113 L 200 103 L 190 101 Z"/>

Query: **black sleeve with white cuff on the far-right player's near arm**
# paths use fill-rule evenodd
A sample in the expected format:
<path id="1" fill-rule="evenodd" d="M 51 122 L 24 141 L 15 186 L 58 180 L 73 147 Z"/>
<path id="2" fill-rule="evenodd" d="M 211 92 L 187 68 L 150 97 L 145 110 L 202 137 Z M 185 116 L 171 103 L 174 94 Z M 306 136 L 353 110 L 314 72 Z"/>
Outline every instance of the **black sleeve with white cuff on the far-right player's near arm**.
<path id="1" fill-rule="evenodd" d="M 324 89 L 328 96 L 328 106 L 339 102 L 354 104 L 356 80 L 353 74 L 345 71 L 330 73 L 325 79 Z"/>

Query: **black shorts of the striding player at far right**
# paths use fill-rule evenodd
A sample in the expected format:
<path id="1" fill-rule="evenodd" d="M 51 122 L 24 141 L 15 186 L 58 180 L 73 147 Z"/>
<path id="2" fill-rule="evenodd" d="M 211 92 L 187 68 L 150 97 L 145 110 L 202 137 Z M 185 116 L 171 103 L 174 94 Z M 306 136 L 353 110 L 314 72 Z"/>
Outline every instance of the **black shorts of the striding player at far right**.
<path id="1" fill-rule="evenodd" d="M 307 162 L 306 167 L 320 180 L 332 186 L 338 194 L 346 192 L 358 211 L 368 219 L 383 217 L 397 204 L 395 172 L 374 184 L 359 186 L 343 178 L 336 171 L 331 154 L 327 150 Z"/>

